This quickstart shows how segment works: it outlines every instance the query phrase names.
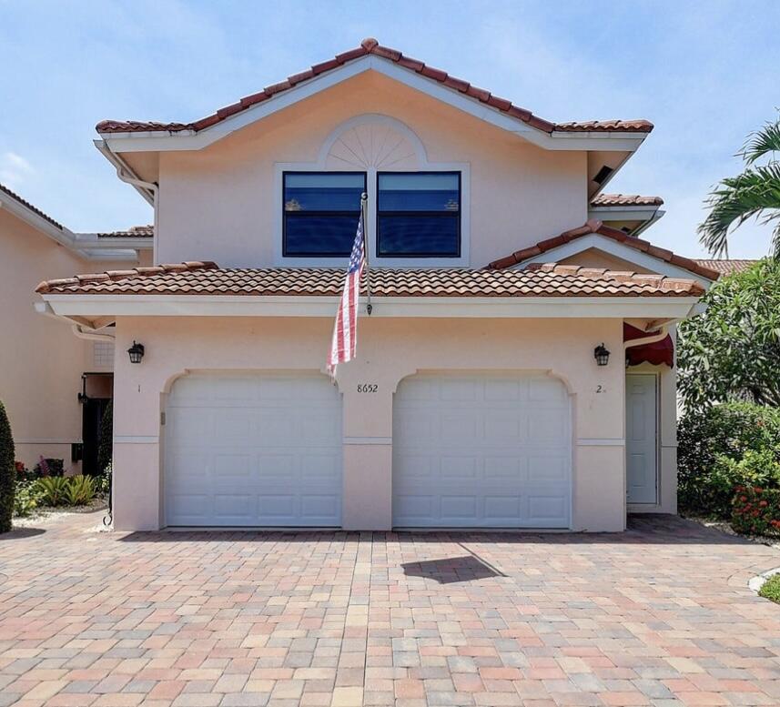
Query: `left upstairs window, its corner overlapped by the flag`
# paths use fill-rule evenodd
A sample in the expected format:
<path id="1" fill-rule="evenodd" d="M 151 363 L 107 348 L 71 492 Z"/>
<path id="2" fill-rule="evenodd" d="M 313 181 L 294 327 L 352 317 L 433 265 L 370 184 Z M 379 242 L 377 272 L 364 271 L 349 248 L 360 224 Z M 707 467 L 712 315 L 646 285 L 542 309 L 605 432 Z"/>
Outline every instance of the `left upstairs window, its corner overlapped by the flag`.
<path id="1" fill-rule="evenodd" d="M 285 172 L 283 254 L 349 258 L 365 172 Z"/>

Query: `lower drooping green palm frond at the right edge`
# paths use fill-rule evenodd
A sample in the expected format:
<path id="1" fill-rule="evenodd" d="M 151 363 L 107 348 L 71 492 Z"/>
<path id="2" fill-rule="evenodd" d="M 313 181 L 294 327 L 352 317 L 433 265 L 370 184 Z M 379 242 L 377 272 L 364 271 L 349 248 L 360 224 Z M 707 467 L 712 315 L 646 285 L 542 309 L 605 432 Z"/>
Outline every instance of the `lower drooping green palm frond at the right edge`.
<path id="1" fill-rule="evenodd" d="M 707 198 L 710 213 L 698 227 L 699 239 L 715 258 L 727 254 L 728 234 L 751 217 L 773 219 L 780 212 L 780 163 L 751 167 L 727 177 Z M 767 213 L 769 212 L 769 213 Z M 775 254 L 778 236 L 775 233 Z"/>

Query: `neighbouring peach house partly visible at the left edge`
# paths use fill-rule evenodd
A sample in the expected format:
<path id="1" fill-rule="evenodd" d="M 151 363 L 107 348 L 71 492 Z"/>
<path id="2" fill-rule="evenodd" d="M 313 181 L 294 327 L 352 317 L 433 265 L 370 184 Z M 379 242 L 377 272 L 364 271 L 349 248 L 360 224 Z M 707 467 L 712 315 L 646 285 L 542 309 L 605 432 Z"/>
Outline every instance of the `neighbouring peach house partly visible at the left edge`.
<path id="1" fill-rule="evenodd" d="M 35 285 L 85 269 L 148 265 L 151 255 L 150 227 L 75 233 L 0 185 L 0 400 L 25 466 L 45 457 L 63 460 L 70 473 L 96 473 L 114 370 L 112 329 L 41 317 Z"/>

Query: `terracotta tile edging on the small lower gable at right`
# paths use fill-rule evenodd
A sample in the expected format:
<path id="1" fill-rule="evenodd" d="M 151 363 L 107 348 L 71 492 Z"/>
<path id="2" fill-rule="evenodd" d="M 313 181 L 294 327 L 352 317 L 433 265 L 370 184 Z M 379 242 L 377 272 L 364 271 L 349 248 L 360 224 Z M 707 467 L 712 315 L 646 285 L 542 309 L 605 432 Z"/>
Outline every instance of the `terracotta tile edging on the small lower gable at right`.
<path id="1" fill-rule="evenodd" d="M 506 256 L 505 258 L 493 260 L 493 262 L 488 265 L 488 268 L 493 270 L 512 268 L 518 263 L 522 263 L 523 260 L 527 260 L 528 258 L 535 258 L 536 256 L 542 255 L 542 253 L 546 253 L 548 250 L 552 250 L 552 248 L 562 246 L 564 243 L 569 243 L 572 240 L 582 238 L 583 236 L 590 236 L 593 233 L 612 238 L 619 243 L 623 243 L 624 246 L 629 246 L 635 248 L 636 250 L 641 250 L 643 253 L 647 253 L 654 258 L 660 258 L 664 260 L 664 262 L 676 265 L 678 268 L 689 270 L 690 272 L 694 273 L 695 275 L 699 275 L 702 278 L 716 280 L 720 275 L 720 272 L 717 270 L 707 268 L 706 266 L 699 264 L 696 260 L 692 260 L 691 258 L 683 258 L 683 256 L 675 255 L 671 250 L 666 250 L 666 248 L 663 247 L 653 246 L 652 243 L 643 240 L 642 238 L 629 236 L 617 228 L 604 226 L 602 221 L 599 221 L 595 218 L 587 221 L 584 226 L 579 228 L 572 228 L 568 231 L 563 231 L 563 233 L 559 236 L 542 240 L 535 246 L 525 247 L 521 250 L 516 250 L 514 253 Z"/>

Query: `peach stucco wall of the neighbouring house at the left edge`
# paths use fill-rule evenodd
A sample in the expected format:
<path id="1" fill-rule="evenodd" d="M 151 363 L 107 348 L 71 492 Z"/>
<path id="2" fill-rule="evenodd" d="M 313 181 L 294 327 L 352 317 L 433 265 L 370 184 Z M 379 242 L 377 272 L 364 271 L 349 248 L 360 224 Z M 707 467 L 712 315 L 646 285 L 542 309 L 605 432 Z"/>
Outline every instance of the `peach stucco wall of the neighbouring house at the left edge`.
<path id="1" fill-rule="evenodd" d="M 148 255 L 145 256 L 148 259 Z M 0 400 L 11 422 L 16 459 L 34 466 L 41 456 L 70 461 L 81 441 L 81 374 L 94 370 L 92 342 L 69 324 L 35 312 L 41 280 L 127 268 L 78 258 L 66 247 L 0 208 Z M 109 369 L 110 370 L 110 369 Z"/>

